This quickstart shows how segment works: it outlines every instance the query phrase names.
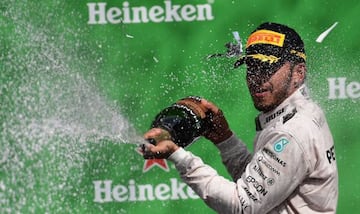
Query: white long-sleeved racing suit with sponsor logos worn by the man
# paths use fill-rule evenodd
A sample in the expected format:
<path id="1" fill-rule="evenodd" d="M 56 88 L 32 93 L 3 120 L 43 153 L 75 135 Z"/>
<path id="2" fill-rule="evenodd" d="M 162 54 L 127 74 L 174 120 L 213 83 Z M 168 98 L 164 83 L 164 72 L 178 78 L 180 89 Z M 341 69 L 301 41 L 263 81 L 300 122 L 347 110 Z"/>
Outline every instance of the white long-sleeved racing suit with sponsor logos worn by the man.
<path id="1" fill-rule="evenodd" d="M 334 143 L 306 87 L 256 121 L 253 155 L 235 135 L 217 144 L 233 181 L 182 148 L 169 160 L 218 213 L 336 213 Z"/>

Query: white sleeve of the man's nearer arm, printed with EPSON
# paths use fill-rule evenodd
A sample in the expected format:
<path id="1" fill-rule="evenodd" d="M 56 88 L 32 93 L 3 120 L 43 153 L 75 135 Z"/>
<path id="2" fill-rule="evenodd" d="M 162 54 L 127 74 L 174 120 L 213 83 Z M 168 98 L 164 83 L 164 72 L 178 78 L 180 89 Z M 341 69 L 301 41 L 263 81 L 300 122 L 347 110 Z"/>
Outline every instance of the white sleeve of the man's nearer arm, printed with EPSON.
<path id="1" fill-rule="evenodd" d="M 302 148 L 288 135 L 274 135 L 256 152 L 241 178 L 229 181 L 199 157 L 180 148 L 169 160 L 181 178 L 219 213 L 267 213 L 283 203 L 308 171 Z M 279 139 L 288 140 L 281 154 L 274 151 Z M 242 167 L 242 166 L 239 166 Z"/>

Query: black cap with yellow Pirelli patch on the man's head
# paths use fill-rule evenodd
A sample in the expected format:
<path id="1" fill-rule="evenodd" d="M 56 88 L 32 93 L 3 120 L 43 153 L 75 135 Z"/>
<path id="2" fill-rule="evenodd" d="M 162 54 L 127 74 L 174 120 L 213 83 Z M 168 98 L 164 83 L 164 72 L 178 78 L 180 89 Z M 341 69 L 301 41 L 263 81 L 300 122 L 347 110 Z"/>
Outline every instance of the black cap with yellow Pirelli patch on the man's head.
<path id="1" fill-rule="evenodd" d="M 305 62 L 304 42 L 296 31 L 286 25 L 266 22 L 257 27 L 246 43 L 246 55 L 236 63 L 251 67 L 260 66 L 262 71 L 277 70 L 285 61 Z"/>

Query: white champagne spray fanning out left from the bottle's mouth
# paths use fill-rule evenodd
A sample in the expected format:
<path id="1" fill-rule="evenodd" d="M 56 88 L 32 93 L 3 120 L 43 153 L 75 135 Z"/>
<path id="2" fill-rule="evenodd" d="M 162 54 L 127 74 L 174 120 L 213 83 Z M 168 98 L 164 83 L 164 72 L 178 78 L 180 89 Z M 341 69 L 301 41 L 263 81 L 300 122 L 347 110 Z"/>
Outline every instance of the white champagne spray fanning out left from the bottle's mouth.
<path id="1" fill-rule="evenodd" d="M 101 56 L 77 55 L 76 48 L 87 48 L 81 38 L 67 47 L 66 36 L 32 23 L 16 1 L 2 9 L 9 32 L 1 41 L 0 213 L 76 212 L 64 193 L 83 194 L 78 187 L 94 145 L 142 138 L 121 105 L 98 90 L 92 74 Z"/>

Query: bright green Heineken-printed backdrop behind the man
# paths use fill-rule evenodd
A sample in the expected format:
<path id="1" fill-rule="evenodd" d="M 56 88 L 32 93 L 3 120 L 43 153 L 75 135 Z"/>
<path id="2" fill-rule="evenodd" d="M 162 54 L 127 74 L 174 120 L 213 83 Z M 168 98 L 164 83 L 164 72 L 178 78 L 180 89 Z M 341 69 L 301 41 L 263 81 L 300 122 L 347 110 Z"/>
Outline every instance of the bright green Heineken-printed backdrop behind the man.
<path id="1" fill-rule="evenodd" d="M 265 21 L 302 36 L 335 139 L 338 213 L 360 208 L 358 1 L 6 0 L 0 11 L 0 213 L 213 213 L 137 144 L 161 109 L 199 95 L 252 149 L 245 70 L 206 57 Z M 229 177 L 208 141 L 188 150 Z"/>

